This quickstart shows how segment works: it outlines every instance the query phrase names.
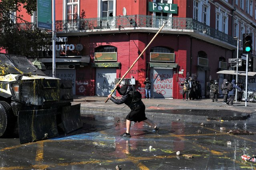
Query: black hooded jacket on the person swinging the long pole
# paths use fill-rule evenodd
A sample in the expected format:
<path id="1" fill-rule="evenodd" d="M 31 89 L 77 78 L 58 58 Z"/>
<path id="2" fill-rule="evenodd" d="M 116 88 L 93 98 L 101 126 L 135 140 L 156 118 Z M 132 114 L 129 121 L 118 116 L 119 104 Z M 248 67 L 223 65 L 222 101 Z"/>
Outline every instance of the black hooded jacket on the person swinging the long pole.
<path id="1" fill-rule="evenodd" d="M 115 99 L 114 97 L 111 97 L 110 100 L 116 103 L 117 105 L 121 105 L 125 103 L 125 105 L 129 106 L 131 109 L 137 106 L 144 105 L 142 101 L 132 103 L 133 97 L 131 94 L 129 94 L 131 90 L 132 90 L 131 86 L 128 86 L 126 92 L 123 94 L 120 92 L 120 87 L 117 87 L 117 91 L 120 95 L 122 95 L 122 98 Z"/>

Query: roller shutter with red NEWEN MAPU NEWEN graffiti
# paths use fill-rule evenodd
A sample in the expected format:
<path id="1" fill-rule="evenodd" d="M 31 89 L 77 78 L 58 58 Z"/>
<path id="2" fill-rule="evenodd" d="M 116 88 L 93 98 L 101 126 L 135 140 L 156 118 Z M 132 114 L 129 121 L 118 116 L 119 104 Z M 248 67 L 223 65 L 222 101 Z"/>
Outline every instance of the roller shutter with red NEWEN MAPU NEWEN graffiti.
<path id="1" fill-rule="evenodd" d="M 151 97 L 172 98 L 173 69 L 153 67 L 150 71 Z"/>

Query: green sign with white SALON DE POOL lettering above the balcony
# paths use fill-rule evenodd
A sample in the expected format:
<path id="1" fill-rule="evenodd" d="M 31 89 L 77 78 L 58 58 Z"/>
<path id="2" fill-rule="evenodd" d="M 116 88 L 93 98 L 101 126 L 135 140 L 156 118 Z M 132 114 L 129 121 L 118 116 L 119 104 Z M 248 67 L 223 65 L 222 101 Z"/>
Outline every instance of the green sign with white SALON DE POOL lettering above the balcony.
<path id="1" fill-rule="evenodd" d="M 149 2 L 150 12 L 163 12 L 177 14 L 177 4 L 166 4 L 161 2 Z"/>

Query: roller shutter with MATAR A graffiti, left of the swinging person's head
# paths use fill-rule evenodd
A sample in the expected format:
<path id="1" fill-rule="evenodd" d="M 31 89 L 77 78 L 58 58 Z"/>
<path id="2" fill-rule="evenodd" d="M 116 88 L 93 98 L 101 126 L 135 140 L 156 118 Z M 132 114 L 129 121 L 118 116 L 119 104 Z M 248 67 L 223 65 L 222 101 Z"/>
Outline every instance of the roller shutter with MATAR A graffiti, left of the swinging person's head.
<path id="1" fill-rule="evenodd" d="M 117 78 L 116 68 L 96 69 L 96 95 L 108 96 L 115 88 L 115 78 Z M 116 91 L 113 95 L 116 94 Z"/>

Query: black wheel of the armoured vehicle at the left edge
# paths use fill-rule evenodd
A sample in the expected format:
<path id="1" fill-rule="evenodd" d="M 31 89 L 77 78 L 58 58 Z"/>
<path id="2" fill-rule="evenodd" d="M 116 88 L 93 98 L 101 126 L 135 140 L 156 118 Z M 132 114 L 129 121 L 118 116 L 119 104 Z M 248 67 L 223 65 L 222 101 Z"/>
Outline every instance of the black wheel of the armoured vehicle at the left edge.
<path id="1" fill-rule="evenodd" d="M 6 135 L 14 128 L 12 107 L 5 101 L 0 101 L 0 136 Z"/>

